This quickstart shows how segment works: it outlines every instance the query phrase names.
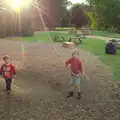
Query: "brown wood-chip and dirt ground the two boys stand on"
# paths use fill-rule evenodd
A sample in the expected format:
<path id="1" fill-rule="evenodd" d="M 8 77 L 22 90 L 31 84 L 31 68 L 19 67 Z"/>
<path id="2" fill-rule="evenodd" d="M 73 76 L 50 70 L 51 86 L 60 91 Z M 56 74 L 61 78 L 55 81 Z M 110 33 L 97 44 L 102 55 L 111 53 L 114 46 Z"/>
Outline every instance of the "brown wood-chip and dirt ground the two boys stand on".
<path id="1" fill-rule="evenodd" d="M 13 94 L 5 95 L 0 80 L 1 120 L 119 120 L 119 84 L 111 81 L 111 72 L 90 53 L 80 50 L 80 57 L 90 81 L 82 81 L 83 98 L 66 99 L 68 71 L 63 60 L 71 50 L 60 44 L 24 43 L 25 59 L 21 59 L 21 42 L 1 40 L 0 56 L 9 54 L 17 66 Z M 6 48 L 7 46 L 7 48 Z"/>

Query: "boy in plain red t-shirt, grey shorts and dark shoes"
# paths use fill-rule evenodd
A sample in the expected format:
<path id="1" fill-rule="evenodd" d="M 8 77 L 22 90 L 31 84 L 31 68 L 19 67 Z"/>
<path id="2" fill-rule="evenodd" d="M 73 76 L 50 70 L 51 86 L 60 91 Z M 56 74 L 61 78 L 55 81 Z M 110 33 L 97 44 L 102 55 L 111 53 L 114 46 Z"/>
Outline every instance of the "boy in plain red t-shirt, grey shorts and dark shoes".
<path id="1" fill-rule="evenodd" d="M 86 79 L 88 79 L 88 77 L 84 73 L 83 64 L 82 64 L 82 61 L 79 59 L 78 51 L 74 51 L 72 53 L 72 58 L 66 61 L 65 64 L 71 73 L 71 80 L 70 80 L 71 91 L 67 97 L 72 97 L 74 90 L 77 88 L 77 92 L 78 92 L 77 98 L 80 99 L 81 98 L 81 91 L 80 91 L 81 75 L 83 75 Z"/>

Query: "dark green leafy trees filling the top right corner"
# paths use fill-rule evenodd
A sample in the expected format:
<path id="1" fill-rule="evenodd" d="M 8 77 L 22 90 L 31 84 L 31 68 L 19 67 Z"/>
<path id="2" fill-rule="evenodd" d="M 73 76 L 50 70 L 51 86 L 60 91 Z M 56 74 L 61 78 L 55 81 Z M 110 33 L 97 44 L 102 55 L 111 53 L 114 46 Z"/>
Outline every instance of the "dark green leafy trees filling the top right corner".
<path id="1" fill-rule="evenodd" d="M 120 32 L 120 0 L 88 0 L 98 28 L 117 28 Z"/>

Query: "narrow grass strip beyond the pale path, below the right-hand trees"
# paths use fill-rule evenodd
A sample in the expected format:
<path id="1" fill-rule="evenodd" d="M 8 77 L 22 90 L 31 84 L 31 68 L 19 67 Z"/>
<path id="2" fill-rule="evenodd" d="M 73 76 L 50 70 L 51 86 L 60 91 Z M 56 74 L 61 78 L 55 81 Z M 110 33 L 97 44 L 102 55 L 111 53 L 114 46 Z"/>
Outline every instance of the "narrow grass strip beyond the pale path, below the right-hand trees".
<path id="1" fill-rule="evenodd" d="M 118 33 L 110 33 L 107 31 L 92 31 L 93 35 L 111 37 L 111 38 L 120 38 L 120 34 Z"/>

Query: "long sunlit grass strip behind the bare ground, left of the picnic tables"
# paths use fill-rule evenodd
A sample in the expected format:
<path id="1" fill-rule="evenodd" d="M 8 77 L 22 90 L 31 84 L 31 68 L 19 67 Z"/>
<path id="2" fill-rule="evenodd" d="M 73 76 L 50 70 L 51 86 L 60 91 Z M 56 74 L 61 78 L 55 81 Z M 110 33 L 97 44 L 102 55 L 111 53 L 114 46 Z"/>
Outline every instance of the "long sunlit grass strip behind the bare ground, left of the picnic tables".
<path id="1" fill-rule="evenodd" d="M 50 42 L 49 37 L 53 38 L 54 36 L 63 36 L 65 38 L 73 36 L 72 34 L 66 34 L 62 32 L 37 32 L 32 37 L 8 37 L 7 39 L 10 40 L 21 40 L 26 42 L 34 42 L 34 41 L 44 41 Z"/>

